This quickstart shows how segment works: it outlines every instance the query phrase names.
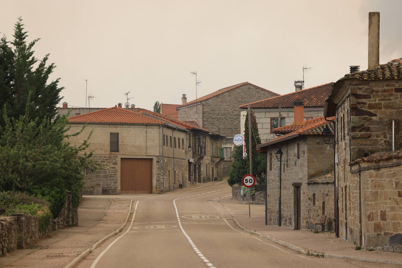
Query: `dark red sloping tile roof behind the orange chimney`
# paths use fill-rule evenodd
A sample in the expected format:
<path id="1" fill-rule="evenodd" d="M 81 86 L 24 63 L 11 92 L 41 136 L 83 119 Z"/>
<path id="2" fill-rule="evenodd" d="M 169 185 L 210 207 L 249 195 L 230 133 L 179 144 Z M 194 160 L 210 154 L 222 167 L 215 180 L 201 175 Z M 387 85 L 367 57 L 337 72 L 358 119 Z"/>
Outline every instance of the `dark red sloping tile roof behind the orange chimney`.
<path id="1" fill-rule="evenodd" d="M 300 99 L 304 102 L 304 107 L 324 107 L 325 100 L 331 93 L 333 85 L 334 83 L 331 82 L 248 104 L 251 108 L 278 108 L 279 104 L 282 108 L 289 108 L 293 107 L 295 100 Z M 240 105 L 239 108 L 247 109 L 248 104 Z"/>

